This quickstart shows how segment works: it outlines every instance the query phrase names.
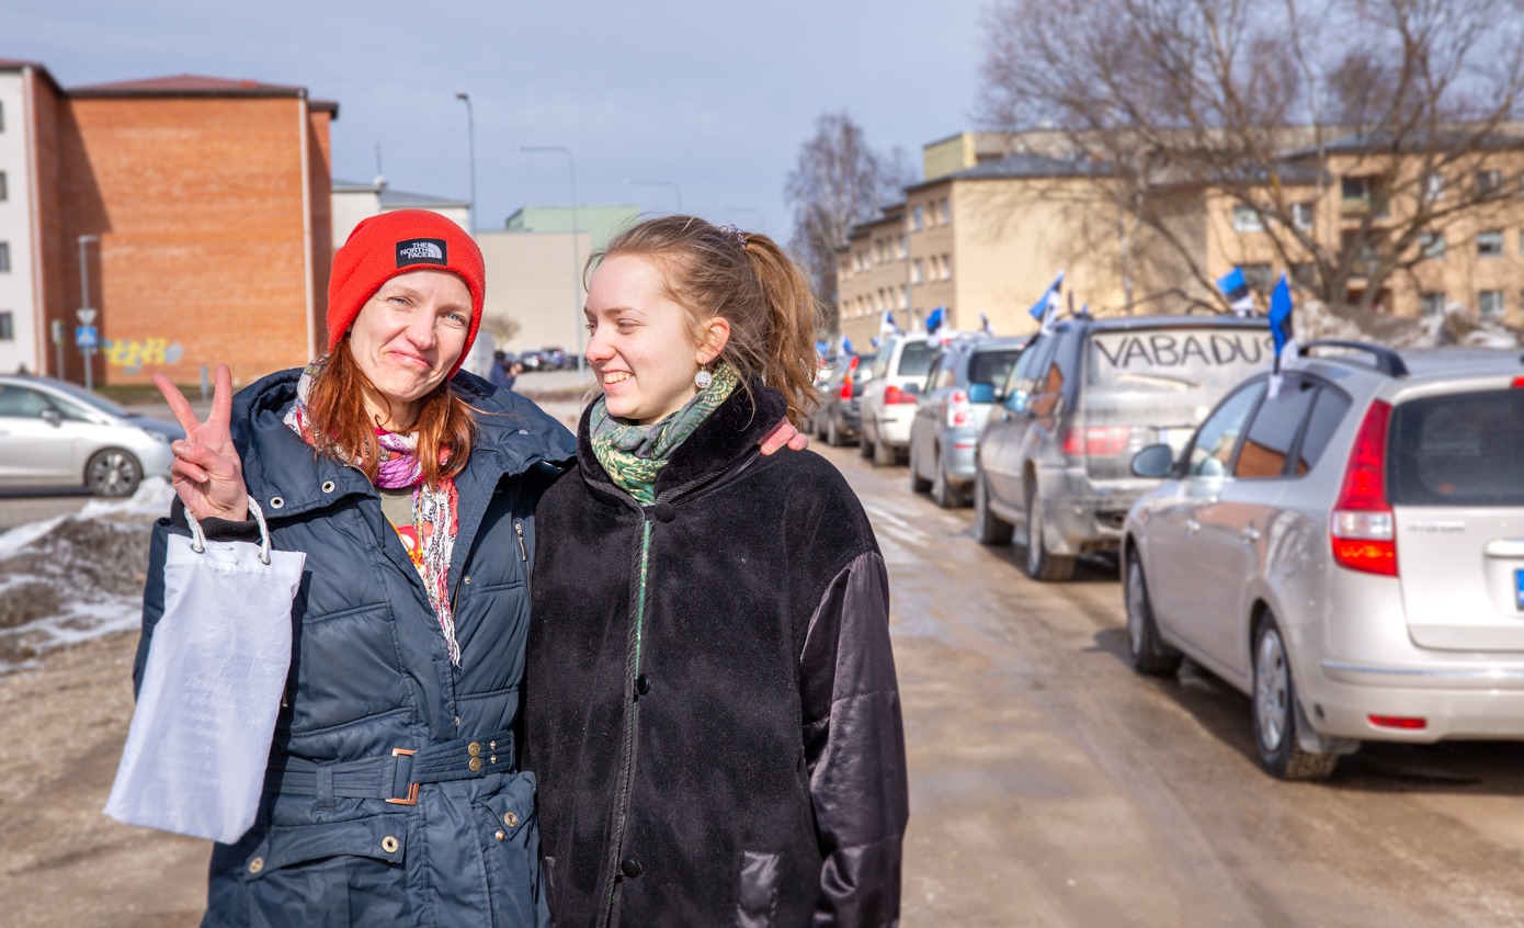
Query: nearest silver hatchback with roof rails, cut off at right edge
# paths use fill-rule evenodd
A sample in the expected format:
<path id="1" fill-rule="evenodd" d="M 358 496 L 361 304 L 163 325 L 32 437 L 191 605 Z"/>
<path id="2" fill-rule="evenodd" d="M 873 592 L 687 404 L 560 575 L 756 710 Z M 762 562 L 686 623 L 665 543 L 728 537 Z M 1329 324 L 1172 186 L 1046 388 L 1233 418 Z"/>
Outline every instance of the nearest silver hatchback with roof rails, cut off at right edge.
<path id="1" fill-rule="evenodd" d="M 1125 526 L 1134 669 L 1184 652 L 1248 693 L 1285 779 L 1364 739 L 1524 739 L 1519 352 L 1301 355 L 1327 347 L 1132 459 L 1167 477 Z"/>

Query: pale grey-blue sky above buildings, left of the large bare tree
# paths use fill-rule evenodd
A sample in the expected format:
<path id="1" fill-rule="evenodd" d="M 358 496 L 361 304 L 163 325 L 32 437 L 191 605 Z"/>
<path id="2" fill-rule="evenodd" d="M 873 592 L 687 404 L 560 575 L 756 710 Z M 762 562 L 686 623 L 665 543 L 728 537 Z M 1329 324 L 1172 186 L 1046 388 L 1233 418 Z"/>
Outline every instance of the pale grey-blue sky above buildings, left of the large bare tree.
<path id="1" fill-rule="evenodd" d="M 523 204 L 683 207 L 786 236 L 783 177 L 814 119 L 847 110 L 876 148 L 968 128 L 986 0 L 663 3 L 136 3 L 3 0 L 0 58 L 64 85 L 178 73 L 299 84 L 340 104 L 334 175 L 465 198 L 475 107 L 480 226 Z M 732 212 L 727 212 L 730 209 Z M 751 210 L 751 212 L 747 212 Z"/>

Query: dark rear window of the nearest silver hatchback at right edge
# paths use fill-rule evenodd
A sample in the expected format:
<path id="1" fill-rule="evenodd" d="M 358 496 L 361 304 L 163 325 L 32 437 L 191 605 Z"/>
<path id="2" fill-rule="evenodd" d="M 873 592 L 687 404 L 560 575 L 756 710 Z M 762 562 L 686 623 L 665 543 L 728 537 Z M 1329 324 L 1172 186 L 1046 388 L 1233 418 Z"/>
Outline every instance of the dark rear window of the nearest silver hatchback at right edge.
<path id="1" fill-rule="evenodd" d="M 1524 506 L 1524 390 L 1411 399 L 1388 436 L 1393 503 Z"/>

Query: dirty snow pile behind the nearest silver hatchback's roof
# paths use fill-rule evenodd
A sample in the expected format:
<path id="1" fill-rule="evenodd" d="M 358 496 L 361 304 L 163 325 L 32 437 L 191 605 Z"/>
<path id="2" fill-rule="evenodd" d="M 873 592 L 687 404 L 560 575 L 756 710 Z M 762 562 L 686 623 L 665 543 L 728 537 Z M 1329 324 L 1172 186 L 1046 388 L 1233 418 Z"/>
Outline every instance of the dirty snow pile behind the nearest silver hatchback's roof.
<path id="1" fill-rule="evenodd" d="M 1519 347 L 1524 331 L 1451 303 L 1443 315 L 1402 318 L 1382 312 L 1332 309 L 1318 300 L 1297 308 L 1292 326 L 1297 341 L 1341 338 L 1375 341 L 1388 347 Z"/>

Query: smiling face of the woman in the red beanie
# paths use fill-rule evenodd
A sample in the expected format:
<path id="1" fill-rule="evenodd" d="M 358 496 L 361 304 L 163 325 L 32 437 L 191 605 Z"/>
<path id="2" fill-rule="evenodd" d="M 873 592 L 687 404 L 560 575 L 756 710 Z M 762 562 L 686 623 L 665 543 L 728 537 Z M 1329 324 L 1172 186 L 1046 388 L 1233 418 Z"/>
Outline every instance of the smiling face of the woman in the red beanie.
<path id="1" fill-rule="evenodd" d="M 471 331 L 471 291 L 450 271 L 398 274 L 366 302 L 349 352 L 393 405 L 422 399 L 456 366 Z"/>

